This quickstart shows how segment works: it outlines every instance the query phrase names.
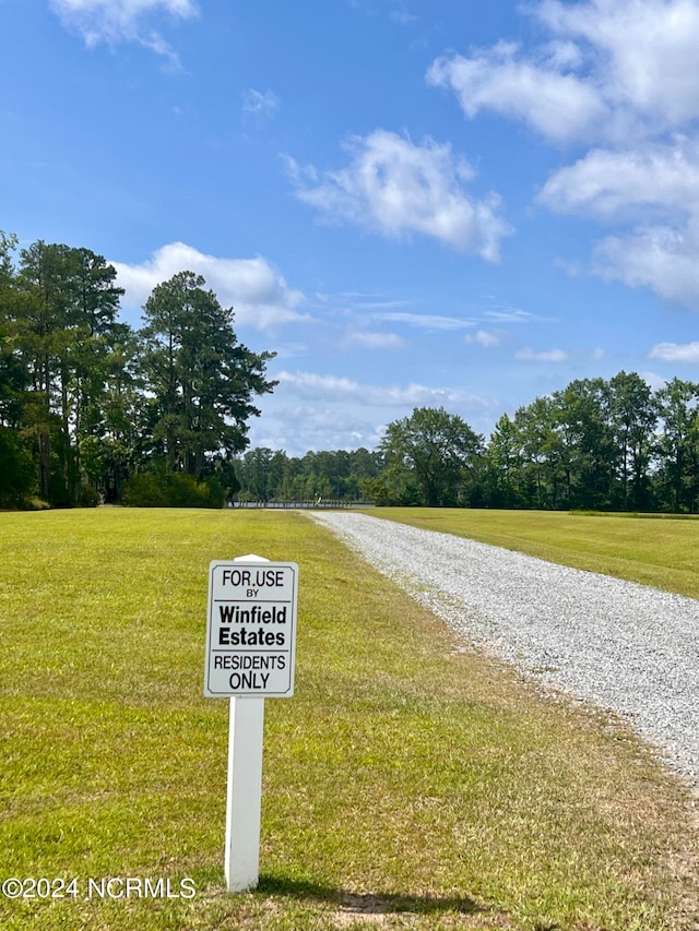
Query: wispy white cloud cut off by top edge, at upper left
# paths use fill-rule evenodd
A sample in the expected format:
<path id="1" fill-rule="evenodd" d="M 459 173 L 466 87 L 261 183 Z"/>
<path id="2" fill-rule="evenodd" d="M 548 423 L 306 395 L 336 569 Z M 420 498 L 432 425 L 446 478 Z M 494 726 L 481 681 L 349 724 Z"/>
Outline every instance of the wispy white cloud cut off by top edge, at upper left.
<path id="1" fill-rule="evenodd" d="M 87 46 L 137 41 L 177 63 L 177 56 L 151 26 L 158 14 L 178 20 L 197 16 L 194 0 L 50 0 L 63 25 L 83 37 Z"/>

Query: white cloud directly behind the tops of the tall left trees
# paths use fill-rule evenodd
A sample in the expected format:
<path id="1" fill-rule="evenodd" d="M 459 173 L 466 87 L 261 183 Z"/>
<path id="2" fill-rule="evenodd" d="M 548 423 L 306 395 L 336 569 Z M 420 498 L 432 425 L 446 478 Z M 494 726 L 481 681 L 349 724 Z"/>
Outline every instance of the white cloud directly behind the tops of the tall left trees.
<path id="1" fill-rule="evenodd" d="M 264 330 L 307 319 L 297 310 L 304 300 L 301 293 L 289 288 L 282 275 L 261 256 L 220 259 L 183 242 L 170 242 L 140 265 L 112 264 L 119 285 L 126 288 L 126 302 L 130 305 L 143 305 L 155 285 L 187 271 L 202 275 L 221 303 L 235 308 L 239 324 Z"/>

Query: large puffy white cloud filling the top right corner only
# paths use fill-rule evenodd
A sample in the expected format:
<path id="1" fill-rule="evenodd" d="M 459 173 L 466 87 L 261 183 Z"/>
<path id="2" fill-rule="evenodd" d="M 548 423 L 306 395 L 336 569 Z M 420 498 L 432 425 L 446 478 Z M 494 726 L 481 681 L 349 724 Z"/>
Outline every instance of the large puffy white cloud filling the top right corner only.
<path id="1" fill-rule="evenodd" d="M 529 12 L 553 41 L 438 58 L 427 81 L 470 118 L 487 108 L 559 143 L 620 142 L 699 117 L 697 0 L 541 0 Z"/>

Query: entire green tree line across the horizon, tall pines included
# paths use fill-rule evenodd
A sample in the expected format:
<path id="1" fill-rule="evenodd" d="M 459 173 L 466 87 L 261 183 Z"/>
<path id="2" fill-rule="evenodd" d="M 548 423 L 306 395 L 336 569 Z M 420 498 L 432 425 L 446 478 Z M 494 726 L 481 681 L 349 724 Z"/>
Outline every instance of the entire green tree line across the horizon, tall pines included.
<path id="1" fill-rule="evenodd" d="M 266 362 L 232 308 L 182 271 L 135 330 L 112 265 L 0 232 L 0 508 L 98 501 L 220 506 L 699 510 L 699 384 L 581 379 L 503 414 L 486 441 L 443 408 L 389 423 L 376 451 L 248 450 Z"/>

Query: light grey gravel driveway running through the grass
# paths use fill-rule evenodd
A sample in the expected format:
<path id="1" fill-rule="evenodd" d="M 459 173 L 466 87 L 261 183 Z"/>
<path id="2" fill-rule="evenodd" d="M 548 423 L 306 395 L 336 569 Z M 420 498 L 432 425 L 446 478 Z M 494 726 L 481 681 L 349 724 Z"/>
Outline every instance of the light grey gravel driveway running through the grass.
<path id="1" fill-rule="evenodd" d="M 367 514 L 311 516 L 469 642 L 624 716 L 699 787 L 699 601 Z"/>

